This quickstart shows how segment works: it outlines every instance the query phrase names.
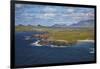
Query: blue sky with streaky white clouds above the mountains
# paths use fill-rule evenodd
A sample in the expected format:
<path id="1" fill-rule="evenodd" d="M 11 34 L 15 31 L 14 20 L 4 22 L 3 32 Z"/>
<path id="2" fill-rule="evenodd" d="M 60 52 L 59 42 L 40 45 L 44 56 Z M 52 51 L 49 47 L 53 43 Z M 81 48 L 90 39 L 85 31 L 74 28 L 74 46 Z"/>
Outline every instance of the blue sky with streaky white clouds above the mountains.
<path id="1" fill-rule="evenodd" d="M 94 20 L 94 8 L 36 4 L 15 5 L 15 25 L 71 25 L 90 19 Z"/>

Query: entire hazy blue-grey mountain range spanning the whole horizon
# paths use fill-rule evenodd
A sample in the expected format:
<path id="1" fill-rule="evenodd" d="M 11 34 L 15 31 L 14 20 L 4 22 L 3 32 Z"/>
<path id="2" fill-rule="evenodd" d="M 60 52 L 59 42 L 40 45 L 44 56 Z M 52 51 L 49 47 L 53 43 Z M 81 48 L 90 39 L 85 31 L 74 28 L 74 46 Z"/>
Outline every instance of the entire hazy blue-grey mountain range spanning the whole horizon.
<path id="1" fill-rule="evenodd" d="M 43 25 L 23 25 L 23 24 L 19 24 L 16 26 L 34 26 L 34 27 L 53 27 L 53 28 L 67 28 L 67 27 L 71 27 L 71 28 L 78 28 L 78 27 L 94 27 L 94 20 L 84 20 L 84 21 L 79 21 L 77 23 L 71 24 L 71 25 L 67 25 L 66 24 L 54 24 L 52 26 L 43 26 Z"/>

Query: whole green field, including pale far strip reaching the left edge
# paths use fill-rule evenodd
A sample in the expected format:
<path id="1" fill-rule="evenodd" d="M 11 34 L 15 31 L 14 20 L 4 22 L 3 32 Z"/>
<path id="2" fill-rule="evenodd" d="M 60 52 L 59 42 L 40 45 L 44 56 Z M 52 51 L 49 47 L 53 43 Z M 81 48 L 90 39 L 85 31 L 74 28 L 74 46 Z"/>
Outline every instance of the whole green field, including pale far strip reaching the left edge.
<path id="1" fill-rule="evenodd" d="M 93 40 L 94 29 L 93 28 L 50 28 L 50 27 L 35 27 L 35 26 L 16 26 L 15 31 L 38 31 L 48 32 L 49 39 L 52 40 Z"/>

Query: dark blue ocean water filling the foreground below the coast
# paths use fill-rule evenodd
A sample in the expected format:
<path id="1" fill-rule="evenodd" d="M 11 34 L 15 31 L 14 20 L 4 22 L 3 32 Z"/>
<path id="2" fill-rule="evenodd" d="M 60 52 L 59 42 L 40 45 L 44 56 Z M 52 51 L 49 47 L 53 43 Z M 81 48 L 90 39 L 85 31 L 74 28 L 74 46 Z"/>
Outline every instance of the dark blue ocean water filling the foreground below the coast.
<path id="1" fill-rule="evenodd" d="M 70 63 L 93 61 L 94 43 L 82 42 L 69 47 L 37 47 L 31 45 L 37 39 L 25 40 L 25 36 L 30 36 L 38 32 L 16 32 L 15 33 L 15 65 L 38 65 L 52 63 Z"/>

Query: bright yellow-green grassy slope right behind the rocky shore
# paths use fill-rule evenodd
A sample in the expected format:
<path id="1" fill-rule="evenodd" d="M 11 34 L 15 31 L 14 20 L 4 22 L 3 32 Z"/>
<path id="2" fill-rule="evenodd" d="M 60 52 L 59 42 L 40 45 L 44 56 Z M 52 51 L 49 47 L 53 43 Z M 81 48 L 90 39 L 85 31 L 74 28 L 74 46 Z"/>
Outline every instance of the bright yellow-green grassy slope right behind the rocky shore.
<path id="1" fill-rule="evenodd" d="M 51 36 L 55 40 L 67 40 L 67 41 L 76 41 L 84 39 L 94 39 L 94 34 L 92 31 L 63 31 L 63 32 L 51 32 Z"/>

